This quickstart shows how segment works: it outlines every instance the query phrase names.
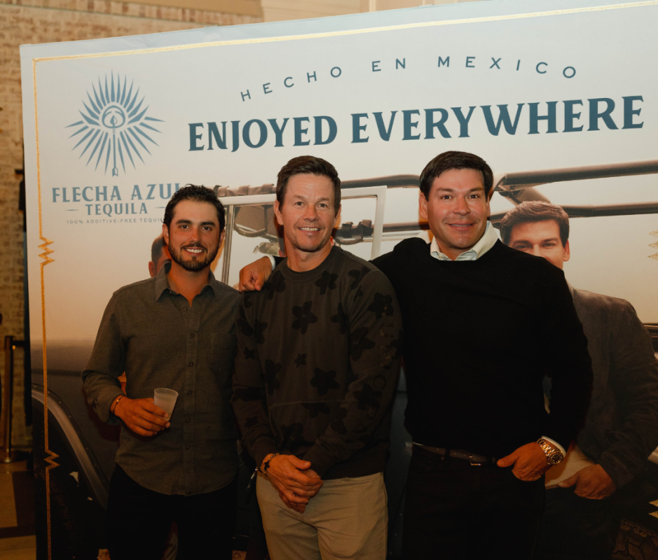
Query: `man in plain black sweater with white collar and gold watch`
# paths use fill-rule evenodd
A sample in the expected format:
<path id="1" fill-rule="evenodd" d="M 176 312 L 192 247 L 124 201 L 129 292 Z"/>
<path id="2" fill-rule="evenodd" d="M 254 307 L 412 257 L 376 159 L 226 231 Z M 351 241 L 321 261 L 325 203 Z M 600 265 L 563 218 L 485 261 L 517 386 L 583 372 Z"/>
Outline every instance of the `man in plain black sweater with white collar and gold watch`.
<path id="1" fill-rule="evenodd" d="M 531 558 L 543 474 L 587 412 L 591 360 L 561 270 L 504 246 L 487 217 L 491 168 L 446 152 L 420 176 L 434 239 L 406 239 L 373 263 L 405 328 L 413 436 L 406 557 Z M 252 270 L 245 288 L 258 287 Z M 542 378 L 553 378 L 550 416 Z"/>

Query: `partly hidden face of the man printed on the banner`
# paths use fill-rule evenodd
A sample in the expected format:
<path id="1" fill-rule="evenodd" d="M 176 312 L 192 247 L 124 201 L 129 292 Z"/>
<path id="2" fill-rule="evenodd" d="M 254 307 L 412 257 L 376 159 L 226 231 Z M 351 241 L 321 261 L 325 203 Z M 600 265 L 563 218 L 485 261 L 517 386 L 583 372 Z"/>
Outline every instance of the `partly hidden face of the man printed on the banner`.
<path id="1" fill-rule="evenodd" d="M 509 234 L 509 246 L 523 253 L 544 257 L 560 269 L 571 256 L 569 241 L 562 244 L 560 226 L 555 220 L 517 223 Z"/>

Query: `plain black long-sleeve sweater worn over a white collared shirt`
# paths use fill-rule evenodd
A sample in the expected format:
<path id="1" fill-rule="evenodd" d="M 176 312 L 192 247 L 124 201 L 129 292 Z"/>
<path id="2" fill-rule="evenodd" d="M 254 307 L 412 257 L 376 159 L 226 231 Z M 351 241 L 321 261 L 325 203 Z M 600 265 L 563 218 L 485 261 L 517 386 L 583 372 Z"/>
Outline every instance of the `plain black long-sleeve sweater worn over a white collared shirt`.
<path id="1" fill-rule="evenodd" d="M 373 263 L 402 309 L 414 441 L 495 457 L 542 435 L 569 446 L 592 371 L 560 269 L 500 241 L 477 260 L 447 262 L 407 239 Z M 545 373 L 553 377 L 549 416 Z"/>

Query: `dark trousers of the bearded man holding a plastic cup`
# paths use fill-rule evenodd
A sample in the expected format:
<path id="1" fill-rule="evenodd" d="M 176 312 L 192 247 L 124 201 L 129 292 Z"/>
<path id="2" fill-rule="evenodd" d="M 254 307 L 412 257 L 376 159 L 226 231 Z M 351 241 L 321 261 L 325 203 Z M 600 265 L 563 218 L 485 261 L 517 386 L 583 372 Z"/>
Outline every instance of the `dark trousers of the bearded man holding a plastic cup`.
<path id="1" fill-rule="evenodd" d="M 140 486 L 116 465 L 107 500 L 112 560 L 160 560 L 172 521 L 177 560 L 228 560 L 233 549 L 235 482 L 214 492 L 170 496 Z"/>

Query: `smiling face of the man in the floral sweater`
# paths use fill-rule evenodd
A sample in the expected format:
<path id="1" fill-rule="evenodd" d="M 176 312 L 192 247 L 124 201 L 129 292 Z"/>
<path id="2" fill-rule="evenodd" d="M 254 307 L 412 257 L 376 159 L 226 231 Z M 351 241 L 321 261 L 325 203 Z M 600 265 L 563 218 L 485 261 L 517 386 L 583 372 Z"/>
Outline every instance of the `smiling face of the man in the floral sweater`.
<path id="1" fill-rule="evenodd" d="M 325 176 L 297 174 L 288 179 L 282 204 L 275 202 L 277 220 L 283 225 L 286 252 L 317 253 L 331 250 L 329 240 L 336 226 L 334 185 Z"/>

